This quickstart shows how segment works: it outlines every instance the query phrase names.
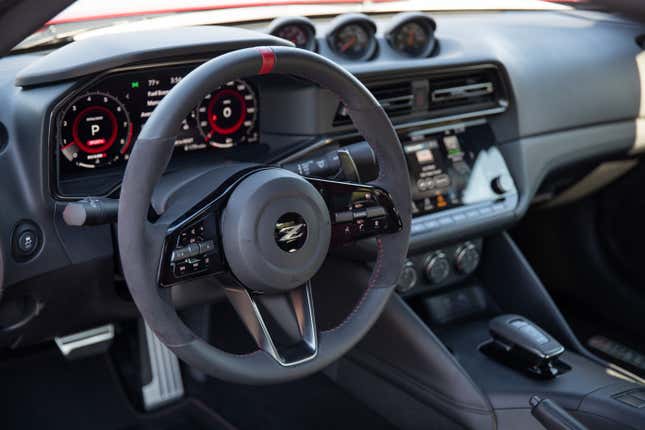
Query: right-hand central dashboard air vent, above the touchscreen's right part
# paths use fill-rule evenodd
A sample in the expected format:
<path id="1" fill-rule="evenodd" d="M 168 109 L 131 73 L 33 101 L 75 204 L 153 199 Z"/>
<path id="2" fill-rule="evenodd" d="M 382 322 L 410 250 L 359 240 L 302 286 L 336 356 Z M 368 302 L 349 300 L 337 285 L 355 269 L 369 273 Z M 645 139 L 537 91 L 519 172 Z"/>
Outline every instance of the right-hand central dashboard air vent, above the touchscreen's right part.
<path id="1" fill-rule="evenodd" d="M 433 116 L 455 115 L 503 107 L 501 82 L 494 68 L 453 72 L 429 79 Z"/>

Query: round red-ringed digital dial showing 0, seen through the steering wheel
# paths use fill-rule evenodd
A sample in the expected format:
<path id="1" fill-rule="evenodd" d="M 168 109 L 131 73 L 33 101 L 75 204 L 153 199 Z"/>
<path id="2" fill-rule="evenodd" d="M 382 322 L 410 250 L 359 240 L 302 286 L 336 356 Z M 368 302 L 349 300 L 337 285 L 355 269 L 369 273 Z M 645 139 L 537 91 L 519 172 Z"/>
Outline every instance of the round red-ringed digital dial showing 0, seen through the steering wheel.
<path id="1" fill-rule="evenodd" d="M 257 141 L 256 98 L 244 81 L 232 81 L 204 97 L 197 107 L 197 123 L 204 141 L 231 148 Z"/>

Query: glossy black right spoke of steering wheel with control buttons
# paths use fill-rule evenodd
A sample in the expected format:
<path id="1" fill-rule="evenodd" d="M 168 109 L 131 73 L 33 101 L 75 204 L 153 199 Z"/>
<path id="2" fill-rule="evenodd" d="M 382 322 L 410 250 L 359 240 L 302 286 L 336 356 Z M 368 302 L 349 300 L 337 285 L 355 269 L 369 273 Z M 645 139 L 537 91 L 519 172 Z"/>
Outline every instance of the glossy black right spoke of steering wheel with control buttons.
<path id="1" fill-rule="evenodd" d="M 307 180 L 329 208 L 332 247 L 401 230 L 399 211 L 383 188 L 318 178 Z"/>

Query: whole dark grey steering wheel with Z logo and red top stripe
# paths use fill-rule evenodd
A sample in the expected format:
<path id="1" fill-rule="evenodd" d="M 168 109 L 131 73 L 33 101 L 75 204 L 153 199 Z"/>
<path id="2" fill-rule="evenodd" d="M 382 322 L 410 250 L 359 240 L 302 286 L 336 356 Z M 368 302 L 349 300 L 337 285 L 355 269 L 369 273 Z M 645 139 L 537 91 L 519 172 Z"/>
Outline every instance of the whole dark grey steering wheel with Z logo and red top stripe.
<path id="1" fill-rule="evenodd" d="M 200 176 L 157 205 L 163 213 L 150 216 L 151 199 L 181 121 L 220 85 L 269 73 L 302 78 L 335 93 L 373 149 L 377 179 L 369 184 L 338 182 L 275 166 L 230 163 Z M 197 67 L 153 111 L 127 164 L 118 240 L 134 302 L 168 348 L 216 378 L 266 384 L 319 371 L 365 335 L 403 267 L 410 217 L 402 147 L 371 93 L 347 71 L 312 52 L 255 47 Z M 377 259 L 362 297 L 335 328 L 318 330 L 311 278 L 330 248 L 369 237 L 376 239 Z M 257 344 L 255 352 L 216 348 L 178 317 L 170 288 L 209 277 L 213 288 L 214 279 L 223 285 Z"/>

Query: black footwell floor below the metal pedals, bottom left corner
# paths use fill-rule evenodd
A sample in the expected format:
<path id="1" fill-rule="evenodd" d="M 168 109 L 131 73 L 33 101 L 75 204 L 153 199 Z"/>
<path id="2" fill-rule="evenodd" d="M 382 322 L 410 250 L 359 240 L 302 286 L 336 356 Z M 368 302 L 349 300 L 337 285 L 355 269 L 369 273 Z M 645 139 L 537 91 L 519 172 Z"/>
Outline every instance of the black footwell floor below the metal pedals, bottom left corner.
<path id="1" fill-rule="evenodd" d="M 186 399 L 152 414 L 131 407 L 107 356 L 65 360 L 48 348 L 0 363 L 3 430 L 232 430 Z"/>

